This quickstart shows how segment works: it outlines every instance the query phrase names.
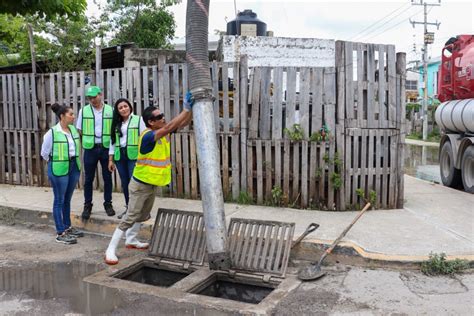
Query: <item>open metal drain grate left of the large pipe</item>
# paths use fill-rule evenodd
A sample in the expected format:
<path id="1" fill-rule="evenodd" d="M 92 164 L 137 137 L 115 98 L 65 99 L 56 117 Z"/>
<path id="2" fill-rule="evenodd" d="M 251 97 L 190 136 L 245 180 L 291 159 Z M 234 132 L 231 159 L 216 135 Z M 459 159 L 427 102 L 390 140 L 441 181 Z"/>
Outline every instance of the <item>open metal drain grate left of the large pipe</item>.
<path id="1" fill-rule="evenodd" d="M 158 209 L 150 255 L 201 265 L 206 235 L 202 213 Z"/>

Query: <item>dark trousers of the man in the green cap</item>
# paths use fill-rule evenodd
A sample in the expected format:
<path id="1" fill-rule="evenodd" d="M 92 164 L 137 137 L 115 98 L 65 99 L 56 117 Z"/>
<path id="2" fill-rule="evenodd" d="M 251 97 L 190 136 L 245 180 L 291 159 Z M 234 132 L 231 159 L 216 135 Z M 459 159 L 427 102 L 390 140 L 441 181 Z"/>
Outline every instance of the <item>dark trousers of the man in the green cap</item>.
<path id="1" fill-rule="evenodd" d="M 102 166 L 102 179 L 104 180 L 104 202 L 112 202 L 112 173 L 108 169 L 109 149 L 94 147 L 84 149 L 84 203 L 92 203 L 92 183 L 94 182 L 97 163 Z"/>

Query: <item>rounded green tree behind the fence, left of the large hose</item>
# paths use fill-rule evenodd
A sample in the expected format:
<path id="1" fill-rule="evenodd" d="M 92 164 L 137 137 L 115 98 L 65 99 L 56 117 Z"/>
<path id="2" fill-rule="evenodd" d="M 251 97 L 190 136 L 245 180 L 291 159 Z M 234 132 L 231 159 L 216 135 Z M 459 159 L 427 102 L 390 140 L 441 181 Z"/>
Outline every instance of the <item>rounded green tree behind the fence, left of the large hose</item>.
<path id="1" fill-rule="evenodd" d="M 110 29 L 115 29 L 110 44 L 134 42 L 141 48 L 171 48 L 176 23 L 167 6 L 176 1 L 109 0 L 106 14 L 115 12 L 110 19 Z"/>

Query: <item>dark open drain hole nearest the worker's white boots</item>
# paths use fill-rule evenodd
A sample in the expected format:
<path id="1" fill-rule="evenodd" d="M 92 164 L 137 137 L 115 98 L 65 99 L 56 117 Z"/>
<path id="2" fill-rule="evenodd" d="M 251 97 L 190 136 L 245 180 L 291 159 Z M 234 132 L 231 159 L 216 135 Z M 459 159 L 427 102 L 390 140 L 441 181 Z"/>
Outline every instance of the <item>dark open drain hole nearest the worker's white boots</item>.
<path id="1" fill-rule="evenodd" d="M 187 276 L 187 273 L 143 266 L 132 271 L 131 273 L 125 274 L 123 276 L 117 276 L 117 278 L 161 287 L 170 287 Z"/>

